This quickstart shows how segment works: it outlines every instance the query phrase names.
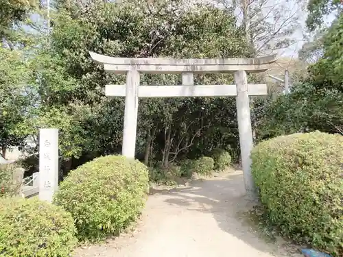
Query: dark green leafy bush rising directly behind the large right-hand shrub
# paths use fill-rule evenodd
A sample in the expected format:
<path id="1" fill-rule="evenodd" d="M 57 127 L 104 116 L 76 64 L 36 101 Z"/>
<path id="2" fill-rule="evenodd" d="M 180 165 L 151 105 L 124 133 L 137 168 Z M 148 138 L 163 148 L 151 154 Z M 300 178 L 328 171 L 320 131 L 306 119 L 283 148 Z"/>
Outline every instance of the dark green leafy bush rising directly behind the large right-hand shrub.
<path id="1" fill-rule="evenodd" d="M 259 137 L 315 130 L 343 134 L 342 106 L 343 94 L 337 90 L 320 89 L 309 83 L 296 85 L 292 93 L 265 106 Z"/>

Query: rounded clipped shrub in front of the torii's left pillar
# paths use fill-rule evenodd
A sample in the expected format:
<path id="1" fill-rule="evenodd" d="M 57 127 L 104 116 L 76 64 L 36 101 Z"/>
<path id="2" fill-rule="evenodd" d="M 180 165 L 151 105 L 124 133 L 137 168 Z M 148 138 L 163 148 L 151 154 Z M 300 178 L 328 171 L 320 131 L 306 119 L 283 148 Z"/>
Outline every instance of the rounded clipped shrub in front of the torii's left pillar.
<path id="1" fill-rule="evenodd" d="M 54 202 L 71 213 L 82 241 L 119 234 L 135 221 L 149 191 L 147 167 L 124 156 L 86 162 L 60 184 Z"/>

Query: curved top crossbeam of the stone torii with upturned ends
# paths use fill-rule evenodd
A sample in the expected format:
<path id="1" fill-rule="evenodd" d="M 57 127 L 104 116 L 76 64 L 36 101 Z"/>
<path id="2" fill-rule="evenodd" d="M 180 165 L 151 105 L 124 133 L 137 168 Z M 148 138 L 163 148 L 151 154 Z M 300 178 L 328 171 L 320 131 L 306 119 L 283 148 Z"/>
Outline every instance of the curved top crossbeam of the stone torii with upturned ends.
<path id="1" fill-rule="evenodd" d="M 259 73 L 267 71 L 276 61 L 276 55 L 259 58 L 205 58 L 205 59 L 170 59 L 170 58 L 117 58 L 89 52 L 91 58 L 104 65 L 105 71 L 125 74 L 132 67 L 142 73 L 234 73 L 246 71 Z"/>

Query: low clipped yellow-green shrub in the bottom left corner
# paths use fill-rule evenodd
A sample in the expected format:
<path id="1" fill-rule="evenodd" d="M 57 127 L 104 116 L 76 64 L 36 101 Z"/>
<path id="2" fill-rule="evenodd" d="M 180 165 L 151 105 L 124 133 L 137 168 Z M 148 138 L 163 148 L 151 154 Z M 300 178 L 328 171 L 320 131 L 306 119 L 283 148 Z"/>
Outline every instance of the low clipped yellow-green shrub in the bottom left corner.
<path id="1" fill-rule="evenodd" d="M 0 199 L 0 255 L 70 256 L 77 240 L 71 215 L 38 199 Z"/>

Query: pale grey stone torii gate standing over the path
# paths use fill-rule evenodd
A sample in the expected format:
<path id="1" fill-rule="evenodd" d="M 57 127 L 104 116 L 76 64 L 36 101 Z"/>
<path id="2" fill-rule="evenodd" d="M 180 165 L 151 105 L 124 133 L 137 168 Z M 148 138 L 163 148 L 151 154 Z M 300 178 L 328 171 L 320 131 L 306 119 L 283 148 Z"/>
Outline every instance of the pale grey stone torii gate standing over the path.
<path id="1" fill-rule="evenodd" d="M 252 130 L 249 95 L 267 95 L 266 84 L 248 84 L 246 73 L 267 71 L 276 56 L 261 58 L 169 59 L 115 58 L 89 52 L 91 58 L 104 66 L 105 71 L 126 74 L 126 85 L 106 85 L 108 97 L 125 97 L 123 156 L 134 158 L 139 97 L 236 97 L 239 144 L 248 196 L 255 195 L 250 172 Z M 181 86 L 139 86 L 140 73 L 182 73 Z M 235 85 L 199 85 L 193 82 L 194 73 L 234 73 Z"/>

